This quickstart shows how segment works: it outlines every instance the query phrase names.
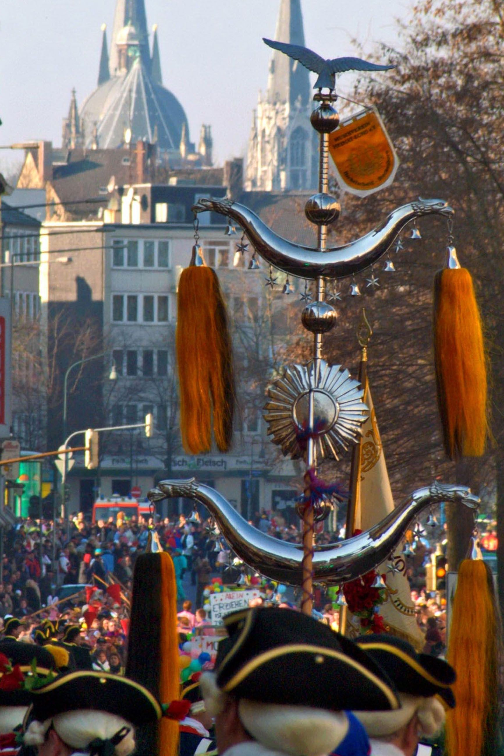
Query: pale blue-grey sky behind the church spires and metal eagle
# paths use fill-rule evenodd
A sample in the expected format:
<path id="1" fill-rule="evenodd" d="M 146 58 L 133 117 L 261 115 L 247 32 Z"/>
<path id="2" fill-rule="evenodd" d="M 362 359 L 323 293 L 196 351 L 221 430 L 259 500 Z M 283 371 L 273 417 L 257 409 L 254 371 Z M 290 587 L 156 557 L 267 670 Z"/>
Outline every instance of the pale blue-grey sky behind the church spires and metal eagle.
<path id="1" fill-rule="evenodd" d="M 356 54 L 375 42 L 398 45 L 397 18 L 411 0 L 301 0 L 305 42 L 323 57 Z M 190 138 L 212 125 L 215 163 L 245 153 L 258 90 L 266 88 L 279 0 L 145 0 L 158 24 L 163 85 L 187 113 Z M 70 93 L 96 88 L 100 25 L 108 43 L 115 0 L 0 0 L 0 144 L 51 139 L 60 146 Z M 351 79 L 338 91 L 351 92 Z M 0 170 L 21 152 L 0 150 Z"/>

